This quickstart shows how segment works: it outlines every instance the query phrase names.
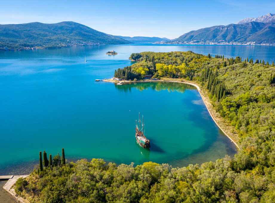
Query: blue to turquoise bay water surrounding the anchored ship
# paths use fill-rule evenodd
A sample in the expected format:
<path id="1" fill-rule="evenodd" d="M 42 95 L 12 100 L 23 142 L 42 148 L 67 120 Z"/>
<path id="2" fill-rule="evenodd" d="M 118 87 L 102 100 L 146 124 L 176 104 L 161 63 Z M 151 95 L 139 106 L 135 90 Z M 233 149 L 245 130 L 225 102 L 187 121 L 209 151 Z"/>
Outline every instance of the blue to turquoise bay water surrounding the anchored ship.
<path id="1" fill-rule="evenodd" d="M 69 159 L 153 161 L 174 167 L 232 156 L 236 148 L 215 125 L 194 87 L 116 86 L 95 79 L 111 78 L 115 69 L 130 65 L 132 52 L 192 50 L 228 57 L 242 52 L 251 57 L 251 49 L 141 44 L 0 52 L 0 174 L 37 163 L 39 151 L 55 155 L 62 148 Z M 264 52 L 265 61 L 274 56 L 274 47 L 254 49 L 255 54 Z M 105 55 L 109 50 L 119 54 Z M 136 144 L 139 112 L 150 150 Z"/>

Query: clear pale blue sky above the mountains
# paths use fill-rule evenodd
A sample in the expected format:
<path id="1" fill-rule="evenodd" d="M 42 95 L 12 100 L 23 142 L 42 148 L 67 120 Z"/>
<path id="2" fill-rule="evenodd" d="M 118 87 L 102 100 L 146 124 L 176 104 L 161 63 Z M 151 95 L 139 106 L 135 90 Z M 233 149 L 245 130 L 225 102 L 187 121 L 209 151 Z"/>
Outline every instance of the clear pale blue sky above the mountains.
<path id="1" fill-rule="evenodd" d="M 169 39 L 268 13 L 274 0 L 0 0 L 0 24 L 74 21 L 111 35 Z"/>

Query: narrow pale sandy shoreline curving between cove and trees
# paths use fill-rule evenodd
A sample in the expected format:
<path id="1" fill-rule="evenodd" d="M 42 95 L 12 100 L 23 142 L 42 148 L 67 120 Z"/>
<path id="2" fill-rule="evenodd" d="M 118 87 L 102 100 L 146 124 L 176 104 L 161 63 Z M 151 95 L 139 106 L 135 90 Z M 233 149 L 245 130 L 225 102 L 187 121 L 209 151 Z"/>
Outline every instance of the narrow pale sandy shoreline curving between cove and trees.
<path id="1" fill-rule="evenodd" d="M 182 80 L 182 79 L 181 79 Z M 167 80 L 145 80 L 145 81 L 127 81 L 127 80 L 103 80 L 105 82 L 113 82 L 113 83 L 120 83 L 121 85 L 123 83 L 142 83 L 142 82 L 176 82 L 176 83 L 183 83 L 195 86 L 202 97 L 203 103 L 205 104 L 206 109 L 208 110 L 208 113 L 210 114 L 213 121 L 216 123 L 216 125 L 219 127 L 219 129 L 226 135 L 226 137 L 231 140 L 231 142 L 234 143 L 234 145 L 240 149 L 237 145 L 237 142 L 239 141 L 239 137 L 237 134 L 237 131 L 235 128 L 227 123 L 227 121 L 222 118 L 219 113 L 216 113 L 216 111 L 213 109 L 213 106 L 211 104 L 211 100 L 209 99 L 207 92 L 205 92 L 205 89 L 201 89 L 200 85 L 193 81 L 180 81 L 179 79 L 173 79 L 173 78 L 167 78 Z M 233 132 L 233 133 L 232 133 Z"/>

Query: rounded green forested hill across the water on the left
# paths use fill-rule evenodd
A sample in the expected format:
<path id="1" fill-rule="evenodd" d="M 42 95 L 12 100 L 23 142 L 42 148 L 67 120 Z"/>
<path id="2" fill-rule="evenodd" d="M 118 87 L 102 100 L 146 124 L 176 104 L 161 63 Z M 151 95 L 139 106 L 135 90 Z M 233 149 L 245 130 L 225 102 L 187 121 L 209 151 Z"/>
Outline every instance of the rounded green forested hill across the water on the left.
<path id="1" fill-rule="evenodd" d="M 129 43 L 122 38 L 71 21 L 0 25 L 0 50 Z"/>

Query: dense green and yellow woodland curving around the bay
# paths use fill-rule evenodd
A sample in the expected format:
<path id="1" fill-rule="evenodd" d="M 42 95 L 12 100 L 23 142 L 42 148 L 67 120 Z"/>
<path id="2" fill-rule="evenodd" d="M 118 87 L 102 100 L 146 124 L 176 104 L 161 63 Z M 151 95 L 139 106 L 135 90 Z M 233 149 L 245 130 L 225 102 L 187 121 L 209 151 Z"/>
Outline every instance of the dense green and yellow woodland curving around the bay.
<path id="1" fill-rule="evenodd" d="M 274 63 L 190 51 L 142 52 L 131 58 L 137 63 L 116 70 L 116 77 L 136 80 L 152 74 L 200 83 L 216 111 L 239 131 L 235 158 L 182 168 L 81 160 L 35 169 L 16 183 L 16 191 L 30 202 L 43 203 L 275 202 Z"/>

